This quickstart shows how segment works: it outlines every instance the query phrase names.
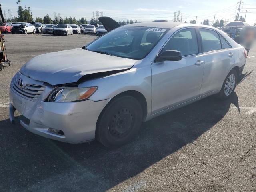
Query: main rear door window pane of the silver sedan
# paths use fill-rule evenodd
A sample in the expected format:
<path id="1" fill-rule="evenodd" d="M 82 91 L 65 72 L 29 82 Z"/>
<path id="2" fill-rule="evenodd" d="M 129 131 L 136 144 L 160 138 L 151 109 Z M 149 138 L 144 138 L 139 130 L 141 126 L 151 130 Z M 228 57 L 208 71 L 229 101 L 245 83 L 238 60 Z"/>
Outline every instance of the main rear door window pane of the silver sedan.
<path id="1" fill-rule="evenodd" d="M 203 52 L 221 49 L 219 34 L 213 30 L 199 29 L 202 37 Z"/>

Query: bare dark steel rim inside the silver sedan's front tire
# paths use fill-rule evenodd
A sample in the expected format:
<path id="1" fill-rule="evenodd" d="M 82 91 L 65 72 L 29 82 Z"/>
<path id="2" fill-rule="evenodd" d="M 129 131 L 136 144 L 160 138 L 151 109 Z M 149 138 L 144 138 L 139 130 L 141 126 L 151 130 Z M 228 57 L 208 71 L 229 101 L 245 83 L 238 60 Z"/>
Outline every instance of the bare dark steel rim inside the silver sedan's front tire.
<path id="1" fill-rule="evenodd" d="M 114 138 L 126 136 L 134 122 L 134 117 L 128 108 L 122 108 L 113 117 L 108 127 L 110 135 Z"/>

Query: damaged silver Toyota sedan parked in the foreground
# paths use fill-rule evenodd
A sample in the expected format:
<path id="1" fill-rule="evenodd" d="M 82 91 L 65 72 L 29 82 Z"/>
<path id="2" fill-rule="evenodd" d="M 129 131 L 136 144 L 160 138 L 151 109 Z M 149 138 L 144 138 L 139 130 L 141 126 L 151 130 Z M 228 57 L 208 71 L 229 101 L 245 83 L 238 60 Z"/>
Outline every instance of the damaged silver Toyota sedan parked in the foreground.
<path id="1" fill-rule="evenodd" d="M 118 147 L 142 122 L 213 94 L 228 99 L 246 56 L 210 26 L 125 25 L 82 48 L 29 60 L 10 84 L 10 120 L 18 110 L 35 134 Z"/>

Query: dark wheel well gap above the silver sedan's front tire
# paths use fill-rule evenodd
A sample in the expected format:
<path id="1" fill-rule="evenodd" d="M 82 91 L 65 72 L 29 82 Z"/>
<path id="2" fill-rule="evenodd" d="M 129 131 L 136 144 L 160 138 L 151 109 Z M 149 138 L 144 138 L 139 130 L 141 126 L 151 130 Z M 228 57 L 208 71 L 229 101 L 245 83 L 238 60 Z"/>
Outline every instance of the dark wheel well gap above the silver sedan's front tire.
<path id="1" fill-rule="evenodd" d="M 132 97 L 136 98 L 142 107 L 143 120 L 146 119 L 147 114 L 148 114 L 148 105 L 147 105 L 146 98 L 144 97 L 144 95 L 142 93 L 140 93 L 138 91 L 130 90 L 130 91 L 122 92 L 122 93 L 114 96 L 112 99 L 115 99 L 115 98 L 118 98 L 121 96 L 132 96 Z"/>

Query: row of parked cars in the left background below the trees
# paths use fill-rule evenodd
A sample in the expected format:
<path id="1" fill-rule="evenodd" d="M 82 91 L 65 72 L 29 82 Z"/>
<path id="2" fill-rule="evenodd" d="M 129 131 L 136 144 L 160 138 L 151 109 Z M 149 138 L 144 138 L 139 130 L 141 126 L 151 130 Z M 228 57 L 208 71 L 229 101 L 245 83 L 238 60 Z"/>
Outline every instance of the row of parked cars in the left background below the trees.
<path id="1" fill-rule="evenodd" d="M 11 32 L 12 34 L 22 33 L 48 33 L 53 35 L 69 35 L 69 34 L 95 34 L 97 36 L 105 34 L 107 31 L 103 25 L 99 24 L 42 24 L 39 22 L 15 22 L 1 23 L 1 32 Z"/>

